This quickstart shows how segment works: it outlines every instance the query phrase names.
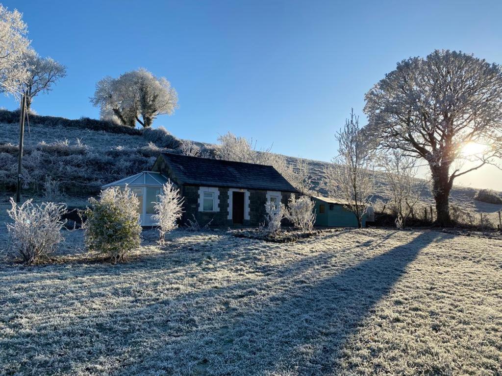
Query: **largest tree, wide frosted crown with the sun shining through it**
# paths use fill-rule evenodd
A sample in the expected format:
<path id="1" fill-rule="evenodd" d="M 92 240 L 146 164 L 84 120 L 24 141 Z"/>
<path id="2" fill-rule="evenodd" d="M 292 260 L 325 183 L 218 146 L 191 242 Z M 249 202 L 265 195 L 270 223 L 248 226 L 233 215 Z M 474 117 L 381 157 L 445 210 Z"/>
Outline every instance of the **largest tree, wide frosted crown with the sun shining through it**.
<path id="1" fill-rule="evenodd" d="M 397 64 L 365 96 L 365 133 L 377 147 L 401 149 L 427 161 L 432 176 L 437 225 L 450 225 L 449 195 L 456 177 L 502 150 L 502 71 L 462 52 L 436 50 L 425 59 Z M 455 161 L 470 142 L 486 145 L 466 169 Z"/>

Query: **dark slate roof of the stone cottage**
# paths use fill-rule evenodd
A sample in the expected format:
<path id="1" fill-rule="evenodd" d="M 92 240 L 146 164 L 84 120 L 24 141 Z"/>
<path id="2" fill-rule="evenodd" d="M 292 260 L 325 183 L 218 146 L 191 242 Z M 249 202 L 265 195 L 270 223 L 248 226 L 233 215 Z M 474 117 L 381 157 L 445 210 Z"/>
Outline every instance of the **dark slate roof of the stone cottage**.
<path id="1" fill-rule="evenodd" d="M 181 184 L 297 192 L 272 166 L 162 153 Z"/>

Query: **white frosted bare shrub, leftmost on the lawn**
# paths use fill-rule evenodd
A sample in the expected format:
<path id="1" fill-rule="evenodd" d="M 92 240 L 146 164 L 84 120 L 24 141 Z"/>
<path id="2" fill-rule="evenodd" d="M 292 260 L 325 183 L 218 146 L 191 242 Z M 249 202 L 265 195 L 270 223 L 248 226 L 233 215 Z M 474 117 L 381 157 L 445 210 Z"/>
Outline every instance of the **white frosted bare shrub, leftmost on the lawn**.
<path id="1" fill-rule="evenodd" d="M 18 252 L 27 265 L 47 258 L 57 249 L 63 237 L 60 230 L 66 212 L 65 204 L 43 203 L 33 205 L 28 200 L 18 206 L 11 198 L 12 208 L 7 211 L 14 223 L 7 224 L 12 249 Z"/>

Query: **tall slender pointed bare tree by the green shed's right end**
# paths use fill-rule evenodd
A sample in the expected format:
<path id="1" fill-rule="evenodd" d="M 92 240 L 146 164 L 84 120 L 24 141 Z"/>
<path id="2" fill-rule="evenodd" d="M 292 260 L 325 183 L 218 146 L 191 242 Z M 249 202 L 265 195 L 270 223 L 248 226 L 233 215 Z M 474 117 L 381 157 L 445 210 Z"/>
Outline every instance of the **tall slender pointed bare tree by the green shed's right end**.
<path id="1" fill-rule="evenodd" d="M 354 213 L 360 228 L 373 191 L 373 158 L 353 110 L 335 138 L 338 156 L 325 169 L 323 185 L 329 196 L 346 202 L 345 208 Z"/>

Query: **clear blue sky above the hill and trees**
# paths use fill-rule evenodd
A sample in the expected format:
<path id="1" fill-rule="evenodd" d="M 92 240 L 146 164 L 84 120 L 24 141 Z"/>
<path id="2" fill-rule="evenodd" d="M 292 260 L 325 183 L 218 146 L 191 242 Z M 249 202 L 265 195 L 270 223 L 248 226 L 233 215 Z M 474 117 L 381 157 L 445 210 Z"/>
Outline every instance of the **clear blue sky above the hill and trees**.
<path id="1" fill-rule="evenodd" d="M 145 67 L 179 95 L 180 108 L 154 126 L 207 142 L 231 131 L 320 160 L 336 153 L 351 107 L 364 123 L 364 94 L 398 61 L 445 48 L 502 63 L 499 1 L 2 4 L 24 14 L 42 56 L 68 67 L 35 98 L 39 114 L 98 117 L 88 99 L 96 81 Z"/>

